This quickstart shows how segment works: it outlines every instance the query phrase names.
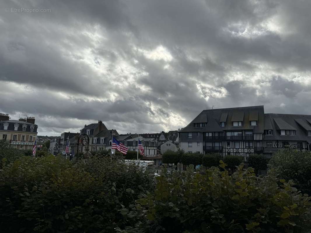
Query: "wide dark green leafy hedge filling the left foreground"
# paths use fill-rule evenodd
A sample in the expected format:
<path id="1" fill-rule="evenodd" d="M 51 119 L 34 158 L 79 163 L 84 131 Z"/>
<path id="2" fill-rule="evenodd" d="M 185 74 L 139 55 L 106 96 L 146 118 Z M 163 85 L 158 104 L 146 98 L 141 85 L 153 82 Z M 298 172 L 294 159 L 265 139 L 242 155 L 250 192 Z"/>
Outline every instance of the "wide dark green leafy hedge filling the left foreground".
<path id="1" fill-rule="evenodd" d="M 119 209 L 150 190 L 151 178 L 110 157 L 69 161 L 59 156 L 20 157 L 0 172 L 3 232 L 115 232 L 131 226 Z"/>

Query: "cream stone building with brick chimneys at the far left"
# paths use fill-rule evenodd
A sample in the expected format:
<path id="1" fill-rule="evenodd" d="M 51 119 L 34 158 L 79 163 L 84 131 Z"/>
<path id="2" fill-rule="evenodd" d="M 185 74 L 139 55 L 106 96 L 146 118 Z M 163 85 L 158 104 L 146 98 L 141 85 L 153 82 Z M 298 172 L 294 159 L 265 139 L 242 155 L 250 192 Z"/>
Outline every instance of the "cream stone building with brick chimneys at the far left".
<path id="1" fill-rule="evenodd" d="M 32 149 L 38 126 L 34 117 L 10 120 L 8 114 L 0 113 L 0 140 L 6 140 L 13 148 Z"/>

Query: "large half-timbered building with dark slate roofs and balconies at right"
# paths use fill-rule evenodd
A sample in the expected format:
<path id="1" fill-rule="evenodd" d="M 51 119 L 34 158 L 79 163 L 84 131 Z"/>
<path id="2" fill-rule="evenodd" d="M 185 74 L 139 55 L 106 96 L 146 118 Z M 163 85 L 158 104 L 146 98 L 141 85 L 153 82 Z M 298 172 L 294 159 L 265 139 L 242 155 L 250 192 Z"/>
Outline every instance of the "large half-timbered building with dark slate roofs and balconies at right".
<path id="1" fill-rule="evenodd" d="M 309 150 L 311 116 L 264 113 L 264 106 L 203 110 L 179 131 L 179 147 L 188 153 L 265 154 L 286 145 Z"/>

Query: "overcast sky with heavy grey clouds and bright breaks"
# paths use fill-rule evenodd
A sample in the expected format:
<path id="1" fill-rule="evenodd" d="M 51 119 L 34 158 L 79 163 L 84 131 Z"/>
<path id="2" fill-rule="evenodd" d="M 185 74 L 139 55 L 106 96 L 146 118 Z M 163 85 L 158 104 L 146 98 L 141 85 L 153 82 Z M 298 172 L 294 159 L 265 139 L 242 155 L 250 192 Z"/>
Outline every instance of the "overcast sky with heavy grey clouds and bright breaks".
<path id="1" fill-rule="evenodd" d="M 31 9 L 50 12 L 14 12 Z M 4 0 L 0 10 L 0 112 L 35 117 L 39 135 L 98 120 L 119 133 L 177 130 L 213 105 L 311 115 L 309 0 Z"/>

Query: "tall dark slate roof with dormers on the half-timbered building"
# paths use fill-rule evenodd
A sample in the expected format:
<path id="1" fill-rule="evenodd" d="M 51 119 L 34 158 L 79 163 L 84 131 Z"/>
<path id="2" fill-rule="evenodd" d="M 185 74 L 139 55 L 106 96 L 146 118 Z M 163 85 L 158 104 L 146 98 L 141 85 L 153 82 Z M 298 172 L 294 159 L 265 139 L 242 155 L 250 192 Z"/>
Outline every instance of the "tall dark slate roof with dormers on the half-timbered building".
<path id="1" fill-rule="evenodd" d="M 258 111 L 258 125 L 257 126 L 250 126 L 249 122 L 249 115 L 250 112 L 253 111 Z M 224 114 L 223 114 L 224 113 Z M 202 115 L 202 116 L 200 116 Z M 225 127 L 218 128 L 220 125 L 220 118 L 226 117 L 225 121 Z M 235 115 L 238 120 L 241 119 L 241 117 L 244 116 L 243 125 L 242 126 L 232 126 L 232 121 L 231 119 L 234 118 L 232 117 Z M 199 117 L 200 116 L 200 117 Z M 209 121 L 215 122 L 215 124 L 218 124 L 218 126 L 213 126 L 217 128 L 218 132 L 222 130 L 253 130 L 254 133 L 263 133 L 263 127 L 264 127 L 264 109 L 263 106 L 252 106 L 252 107 L 235 107 L 235 108 L 220 108 L 220 109 L 209 109 L 209 110 L 203 110 L 199 116 L 197 116 L 195 119 L 208 119 Z M 214 119 L 216 119 L 216 121 Z M 199 123 L 199 122 L 194 122 L 191 121 L 188 126 L 184 127 L 183 129 L 180 130 L 180 132 L 207 132 L 207 127 L 204 128 L 197 128 L 194 127 L 194 123 Z M 201 122 L 200 122 L 201 123 Z M 202 122 L 203 123 L 203 122 Z M 207 122 L 208 123 L 208 122 Z M 215 131 L 216 132 L 216 131 Z"/>

